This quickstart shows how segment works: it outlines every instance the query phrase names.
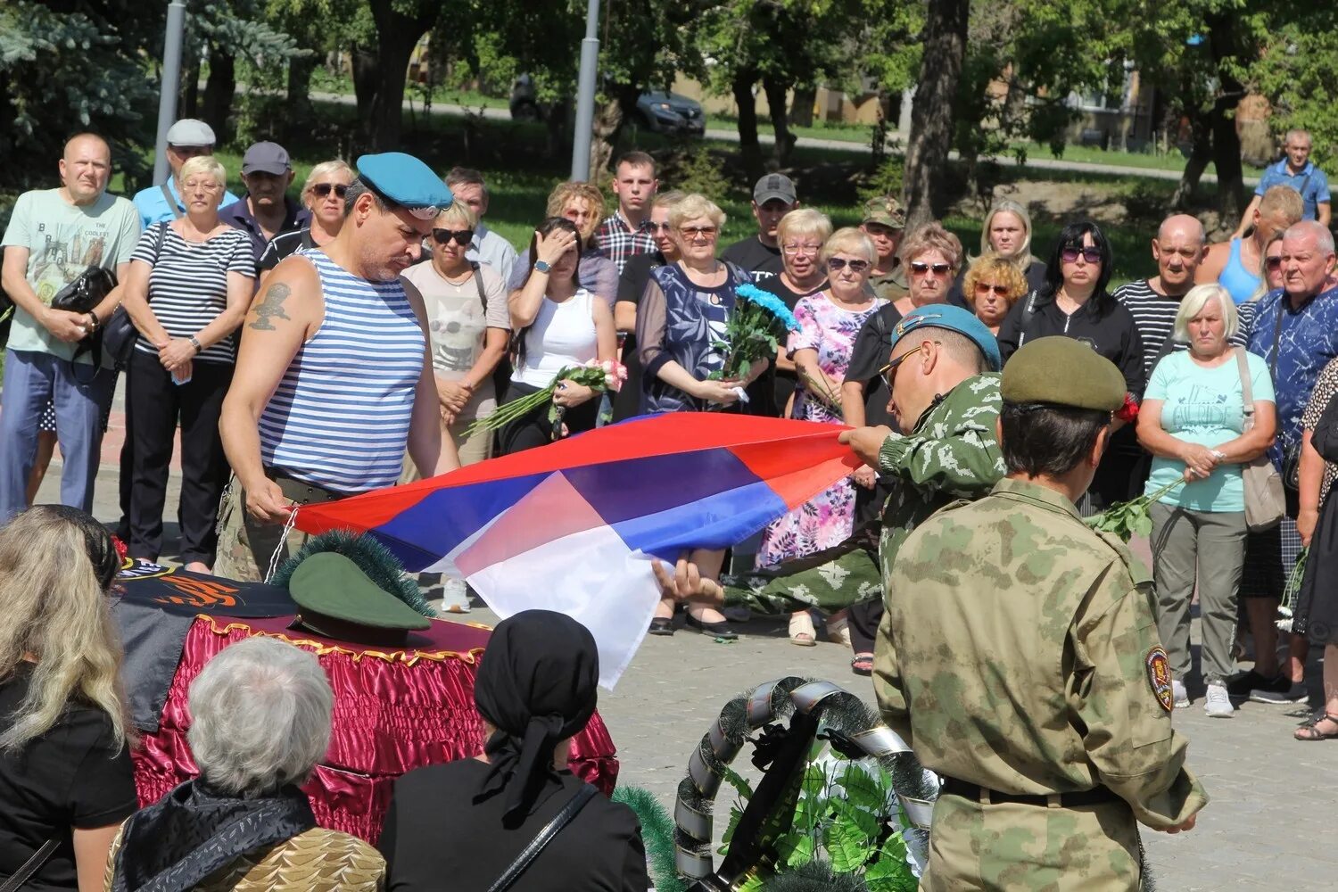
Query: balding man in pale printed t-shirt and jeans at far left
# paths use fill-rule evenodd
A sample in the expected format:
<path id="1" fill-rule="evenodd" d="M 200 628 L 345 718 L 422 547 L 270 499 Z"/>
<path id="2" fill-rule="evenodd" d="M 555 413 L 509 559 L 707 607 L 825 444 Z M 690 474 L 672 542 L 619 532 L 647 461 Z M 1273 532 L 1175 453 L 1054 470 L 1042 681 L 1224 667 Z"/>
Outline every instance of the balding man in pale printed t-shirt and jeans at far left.
<path id="1" fill-rule="evenodd" d="M 0 391 L 0 524 L 27 507 L 28 475 L 37 449 L 37 423 L 55 404 L 64 471 L 60 501 L 88 511 L 102 447 L 102 408 L 115 374 L 99 369 L 80 340 L 102 326 L 116 306 L 108 294 L 91 313 L 51 309 L 66 285 L 90 266 L 130 269 L 139 239 L 139 214 L 108 195 L 111 151 L 94 134 L 66 143 L 60 189 L 24 193 L 4 234 L 0 286 L 15 304 L 4 389 Z"/>

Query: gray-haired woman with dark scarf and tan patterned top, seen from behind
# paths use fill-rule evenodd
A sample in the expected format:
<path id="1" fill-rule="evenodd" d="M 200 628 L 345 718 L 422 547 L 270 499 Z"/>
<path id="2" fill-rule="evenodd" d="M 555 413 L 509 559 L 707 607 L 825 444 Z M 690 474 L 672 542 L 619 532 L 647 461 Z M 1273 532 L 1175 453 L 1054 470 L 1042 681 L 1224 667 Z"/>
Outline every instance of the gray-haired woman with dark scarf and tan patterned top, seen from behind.
<path id="1" fill-rule="evenodd" d="M 209 661 L 190 685 L 199 777 L 122 825 L 107 892 L 381 889 L 380 855 L 316 826 L 298 789 L 329 746 L 333 705 L 316 657 L 274 638 Z"/>

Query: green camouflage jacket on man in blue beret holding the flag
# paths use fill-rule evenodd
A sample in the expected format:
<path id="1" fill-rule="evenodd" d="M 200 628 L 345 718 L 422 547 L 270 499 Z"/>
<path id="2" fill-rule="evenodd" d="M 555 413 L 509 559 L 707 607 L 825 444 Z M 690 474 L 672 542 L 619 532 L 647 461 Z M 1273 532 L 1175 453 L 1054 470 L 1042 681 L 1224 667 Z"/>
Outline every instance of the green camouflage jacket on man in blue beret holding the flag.
<path id="1" fill-rule="evenodd" d="M 884 580 L 917 524 L 954 499 L 983 496 L 1004 476 L 995 435 L 1001 405 L 999 376 L 978 374 L 949 391 L 910 435 L 883 443 L 878 473 L 892 480 L 878 547 Z"/>

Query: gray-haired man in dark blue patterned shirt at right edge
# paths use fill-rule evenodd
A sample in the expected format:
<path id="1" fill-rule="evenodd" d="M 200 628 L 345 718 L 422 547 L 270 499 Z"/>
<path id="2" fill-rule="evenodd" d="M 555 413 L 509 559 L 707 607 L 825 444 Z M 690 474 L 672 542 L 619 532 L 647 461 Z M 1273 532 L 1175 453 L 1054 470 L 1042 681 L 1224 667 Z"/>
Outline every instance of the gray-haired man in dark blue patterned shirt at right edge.
<path id="1" fill-rule="evenodd" d="M 1283 285 L 1258 301 L 1258 313 L 1247 349 L 1268 362 L 1278 404 L 1278 440 L 1270 456 L 1283 469 L 1301 449 L 1301 416 L 1319 370 L 1338 356 L 1338 288 L 1334 271 L 1334 238 L 1326 226 L 1302 221 L 1282 237 Z M 1327 290 L 1326 290 L 1327 289 Z M 1291 654 L 1279 667 L 1275 654 L 1278 600 L 1301 554 L 1297 531 L 1299 499 L 1287 485 L 1287 516 L 1272 530 L 1246 538 L 1246 566 L 1240 596 L 1255 641 L 1255 665 L 1248 674 L 1227 685 L 1238 698 L 1262 703 L 1305 701 L 1306 639 L 1291 637 Z"/>

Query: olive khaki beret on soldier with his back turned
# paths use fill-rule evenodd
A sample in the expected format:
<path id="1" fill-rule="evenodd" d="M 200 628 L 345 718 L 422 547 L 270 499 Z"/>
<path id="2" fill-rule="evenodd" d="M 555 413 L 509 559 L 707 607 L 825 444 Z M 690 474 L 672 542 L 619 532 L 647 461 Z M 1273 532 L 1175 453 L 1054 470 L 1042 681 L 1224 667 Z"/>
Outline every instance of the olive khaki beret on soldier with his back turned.
<path id="1" fill-rule="evenodd" d="M 999 391 L 1005 403 L 1049 403 L 1097 412 L 1117 412 L 1127 392 L 1115 362 L 1061 334 L 1028 341 L 1009 357 Z"/>

